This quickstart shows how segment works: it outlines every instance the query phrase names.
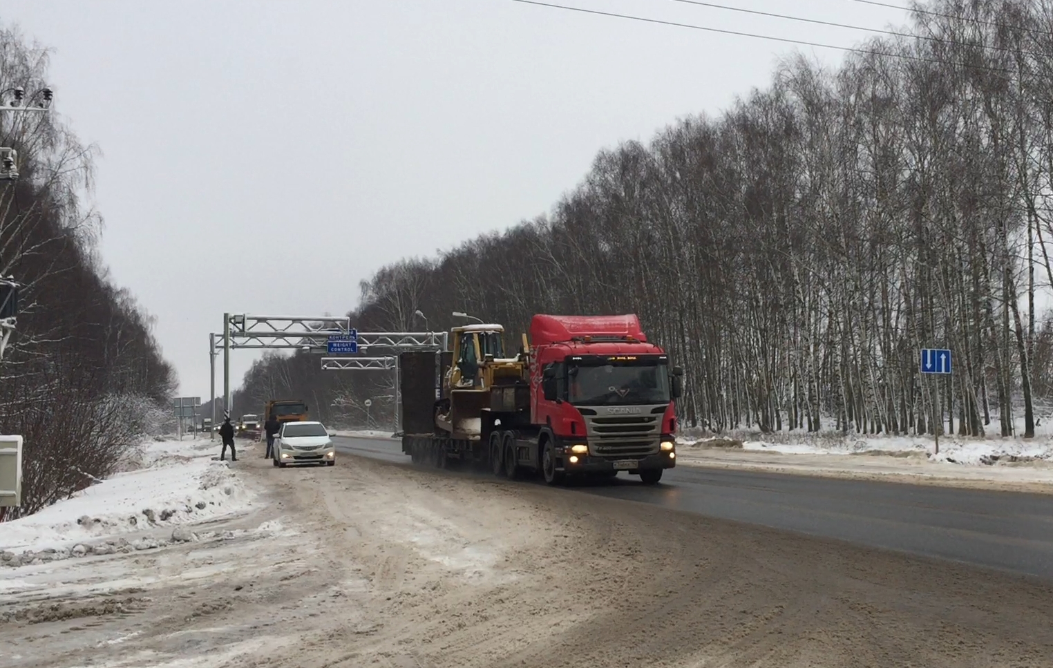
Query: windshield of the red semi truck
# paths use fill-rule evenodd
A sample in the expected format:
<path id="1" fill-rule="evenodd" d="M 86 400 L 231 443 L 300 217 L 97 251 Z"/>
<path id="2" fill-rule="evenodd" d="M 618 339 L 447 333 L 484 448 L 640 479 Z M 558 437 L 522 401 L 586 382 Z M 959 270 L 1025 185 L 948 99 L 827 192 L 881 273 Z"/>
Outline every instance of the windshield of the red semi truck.
<path id="1" fill-rule="evenodd" d="M 669 367 L 664 364 L 614 362 L 574 365 L 568 369 L 568 399 L 578 406 L 668 404 Z"/>

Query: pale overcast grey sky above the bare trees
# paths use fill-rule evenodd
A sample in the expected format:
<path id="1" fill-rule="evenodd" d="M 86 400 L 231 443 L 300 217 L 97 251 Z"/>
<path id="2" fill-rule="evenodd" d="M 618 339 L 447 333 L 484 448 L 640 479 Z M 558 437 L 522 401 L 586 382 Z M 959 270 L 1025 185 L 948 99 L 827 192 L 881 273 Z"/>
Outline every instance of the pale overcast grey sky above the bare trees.
<path id="1" fill-rule="evenodd" d="M 672 0 L 553 1 L 866 36 Z M 717 2 L 908 20 L 853 0 Z M 794 48 L 843 57 L 511 0 L 3 0 L 0 21 L 54 49 L 55 108 L 103 153 L 102 256 L 157 318 L 181 393 L 201 397 L 223 311 L 343 313 L 382 264 L 549 210 L 598 149 L 718 114 Z M 235 355 L 236 385 L 253 359 Z"/>

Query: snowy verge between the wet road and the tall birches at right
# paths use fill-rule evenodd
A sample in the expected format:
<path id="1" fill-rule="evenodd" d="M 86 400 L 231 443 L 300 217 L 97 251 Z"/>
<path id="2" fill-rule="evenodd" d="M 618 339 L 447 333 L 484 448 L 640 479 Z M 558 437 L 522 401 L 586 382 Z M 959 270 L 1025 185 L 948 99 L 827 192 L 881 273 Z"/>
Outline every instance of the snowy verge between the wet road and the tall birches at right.
<path id="1" fill-rule="evenodd" d="M 852 438 L 678 440 L 677 463 L 890 482 L 1053 493 L 1053 439 Z M 795 442 L 796 441 L 796 442 Z"/>

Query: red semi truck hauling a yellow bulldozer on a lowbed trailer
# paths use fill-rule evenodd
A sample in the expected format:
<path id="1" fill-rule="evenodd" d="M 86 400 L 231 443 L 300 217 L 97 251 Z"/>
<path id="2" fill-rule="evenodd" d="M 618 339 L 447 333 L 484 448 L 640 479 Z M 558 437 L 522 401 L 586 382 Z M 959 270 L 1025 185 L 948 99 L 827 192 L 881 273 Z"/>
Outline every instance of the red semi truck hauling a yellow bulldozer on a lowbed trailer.
<path id="1" fill-rule="evenodd" d="M 635 473 L 676 464 L 679 368 L 635 315 L 534 316 L 518 355 L 500 325 L 455 327 L 453 350 L 401 356 L 402 451 L 516 478 Z"/>

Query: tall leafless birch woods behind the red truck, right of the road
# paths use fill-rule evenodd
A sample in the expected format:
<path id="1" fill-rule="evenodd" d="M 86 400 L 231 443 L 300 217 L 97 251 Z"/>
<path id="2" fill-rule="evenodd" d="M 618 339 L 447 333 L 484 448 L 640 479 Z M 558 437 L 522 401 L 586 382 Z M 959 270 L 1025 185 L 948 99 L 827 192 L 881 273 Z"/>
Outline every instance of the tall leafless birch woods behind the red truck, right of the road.
<path id="1" fill-rule="evenodd" d="M 686 424 L 1033 436 L 1053 390 L 1053 2 L 911 21 L 601 150 L 549 215 L 377 271 L 352 318 L 464 310 L 515 337 L 535 312 L 636 312 L 686 369 Z M 920 377 L 923 347 L 953 351 L 951 378 Z M 272 358 L 245 391 L 286 369 L 334 416 L 375 391 L 317 367 Z"/>

